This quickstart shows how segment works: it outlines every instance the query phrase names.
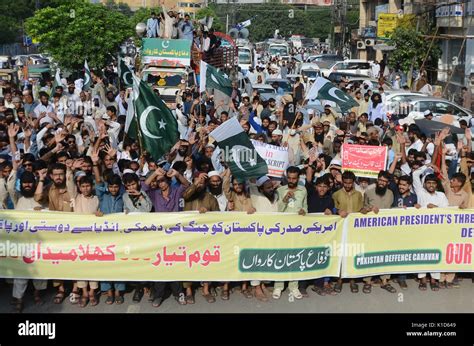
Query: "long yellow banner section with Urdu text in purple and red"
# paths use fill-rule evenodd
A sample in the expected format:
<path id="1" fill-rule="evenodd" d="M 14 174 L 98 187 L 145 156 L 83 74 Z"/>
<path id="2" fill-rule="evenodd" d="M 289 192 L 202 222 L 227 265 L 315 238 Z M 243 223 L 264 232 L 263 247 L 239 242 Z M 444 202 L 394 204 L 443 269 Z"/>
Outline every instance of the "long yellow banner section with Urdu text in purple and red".
<path id="1" fill-rule="evenodd" d="M 120 281 L 339 276 L 343 220 L 280 213 L 0 212 L 0 277 Z"/>

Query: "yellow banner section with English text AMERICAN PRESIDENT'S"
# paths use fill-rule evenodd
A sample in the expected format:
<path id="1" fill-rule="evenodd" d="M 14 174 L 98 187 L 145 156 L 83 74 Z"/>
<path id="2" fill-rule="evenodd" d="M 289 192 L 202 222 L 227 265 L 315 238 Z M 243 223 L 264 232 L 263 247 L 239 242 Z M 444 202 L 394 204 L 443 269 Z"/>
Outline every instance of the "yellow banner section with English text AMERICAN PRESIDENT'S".
<path id="1" fill-rule="evenodd" d="M 343 277 L 473 272 L 473 209 L 391 209 L 347 217 Z"/>

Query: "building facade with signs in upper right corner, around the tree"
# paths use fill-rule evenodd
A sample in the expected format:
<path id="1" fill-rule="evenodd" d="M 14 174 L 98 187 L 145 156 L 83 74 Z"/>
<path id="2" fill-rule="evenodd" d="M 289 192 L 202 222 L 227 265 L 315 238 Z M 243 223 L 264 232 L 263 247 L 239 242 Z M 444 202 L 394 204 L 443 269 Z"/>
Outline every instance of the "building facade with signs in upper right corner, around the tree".
<path id="1" fill-rule="evenodd" d="M 461 2 L 461 4 L 459 4 Z M 446 5 L 449 3 L 449 5 Z M 360 21 L 352 33 L 353 53 L 360 59 L 382 60 L 394 47 L 380 39 L 380 14 L 392 18 L 405 14 L 432 11 L 436 19 L 437 38 L 442 50 L 438 63 L 438 82 L 449 95 L 462 86 L 474 88 L 474 0 L 360 0 Z M 385 16 L 387 17 L 387 16 Z M 474 89 L 473 89 L 474 91 Z"/>

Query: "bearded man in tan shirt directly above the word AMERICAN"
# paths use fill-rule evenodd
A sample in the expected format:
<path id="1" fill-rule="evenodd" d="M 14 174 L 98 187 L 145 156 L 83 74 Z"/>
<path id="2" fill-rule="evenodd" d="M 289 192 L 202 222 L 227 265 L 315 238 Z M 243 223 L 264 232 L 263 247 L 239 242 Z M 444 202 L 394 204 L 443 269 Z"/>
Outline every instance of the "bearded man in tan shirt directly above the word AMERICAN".
<path id="1" fill-rule="evenodd" d="M 364 207 L 361 213 L 367 214 L 373 211 L 378 214 L 380 209 L 390 209 L 393 204 L 393 192 L 388 188 L 388 184 L 391 180 L 391 174 L 388 171 L 380 171 L 375 185 L 369 186 L 364 194 Z M 382 275 L 382 285 L 380 286 L 384 290 L 390 293 L 396 293 L 397 290 L 388 283 L 390 275 Z M 372 292 L 372 277 L 369 276 L 364 278 L 364 293 Z"/>

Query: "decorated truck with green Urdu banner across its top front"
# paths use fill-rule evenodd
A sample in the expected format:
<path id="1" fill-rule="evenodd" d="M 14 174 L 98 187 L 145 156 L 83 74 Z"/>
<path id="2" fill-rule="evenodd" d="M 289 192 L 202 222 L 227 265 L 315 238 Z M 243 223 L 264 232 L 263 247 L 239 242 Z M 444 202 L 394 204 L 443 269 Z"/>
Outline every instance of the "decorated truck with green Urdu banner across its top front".
<path id="1" fill-rule="evenodd" d="M 170 108 L 176 107 L 176 93 L 194 85 L 191 68 L 191 41 L 144 38 L 139 75 Z"/>

